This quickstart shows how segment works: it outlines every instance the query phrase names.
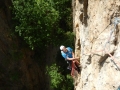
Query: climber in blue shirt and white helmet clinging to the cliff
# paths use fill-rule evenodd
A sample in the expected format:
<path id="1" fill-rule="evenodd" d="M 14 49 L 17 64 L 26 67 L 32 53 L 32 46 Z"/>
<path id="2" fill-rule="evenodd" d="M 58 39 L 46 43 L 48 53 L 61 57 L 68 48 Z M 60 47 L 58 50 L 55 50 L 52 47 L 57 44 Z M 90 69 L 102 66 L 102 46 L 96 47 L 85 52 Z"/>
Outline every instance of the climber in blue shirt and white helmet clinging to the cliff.
<path id="1" fill-rule="evenodd" d="M 80 64 L 78 62 L 79 57 L 75 58 L 75 54 L 73 52 L 73 49 L 70 47 L 66 48 L 65 46 L 61 45 L 60 50 L 61 50 L 62 57 L 65 58 L 65 60 L 69 63 L 68 69 L 71 70 L 71 64 L 73 61 L 73 63 L 76 65 L 78 72 L 79 72 L 80 71 Z"/>

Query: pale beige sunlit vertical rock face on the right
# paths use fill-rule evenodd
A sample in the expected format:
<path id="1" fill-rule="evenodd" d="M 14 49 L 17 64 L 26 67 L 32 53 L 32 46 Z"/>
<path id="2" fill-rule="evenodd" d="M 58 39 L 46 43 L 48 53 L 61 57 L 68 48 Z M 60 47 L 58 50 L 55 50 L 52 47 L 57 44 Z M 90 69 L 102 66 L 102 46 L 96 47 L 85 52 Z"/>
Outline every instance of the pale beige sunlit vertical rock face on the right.
<path id="1" fill-rule="evenodd" d="M 117 90 L 120 0 L 73 0 L 72 7 L 75 52 L 82 65 L 75 90 Z"/>

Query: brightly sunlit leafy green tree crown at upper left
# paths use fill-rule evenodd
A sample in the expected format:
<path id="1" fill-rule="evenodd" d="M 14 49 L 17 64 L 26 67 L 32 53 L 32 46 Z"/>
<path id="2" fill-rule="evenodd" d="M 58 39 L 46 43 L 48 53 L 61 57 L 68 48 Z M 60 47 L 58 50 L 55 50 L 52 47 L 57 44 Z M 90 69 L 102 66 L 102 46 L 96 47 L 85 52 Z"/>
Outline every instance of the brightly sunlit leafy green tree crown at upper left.
<path id="1" fill-rule="evenodd" d="M 14 19 L 18 20 L 15 31 L 32 49 L 53 42 L 51 34 L 58 19 L 58 12 L 51 7 L 49 2 L 38 4 L 34 0 L 14 0 L 13 5 Z"/>

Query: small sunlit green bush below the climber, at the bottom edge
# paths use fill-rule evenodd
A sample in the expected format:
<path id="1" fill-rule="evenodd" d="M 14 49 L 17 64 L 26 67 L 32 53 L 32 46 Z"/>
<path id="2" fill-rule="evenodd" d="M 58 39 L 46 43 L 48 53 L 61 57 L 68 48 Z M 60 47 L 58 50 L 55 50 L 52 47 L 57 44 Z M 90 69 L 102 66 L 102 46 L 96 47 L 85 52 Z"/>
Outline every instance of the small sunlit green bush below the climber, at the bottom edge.
<path id="1" fill-rule="evenodd" d="M 73 80 L 70 75 L 62 75 L 60 67 L 56 64 L 47 67 L 47 73 L 51 78 L 51 87 L 55 90 L 72 90 Z"/>

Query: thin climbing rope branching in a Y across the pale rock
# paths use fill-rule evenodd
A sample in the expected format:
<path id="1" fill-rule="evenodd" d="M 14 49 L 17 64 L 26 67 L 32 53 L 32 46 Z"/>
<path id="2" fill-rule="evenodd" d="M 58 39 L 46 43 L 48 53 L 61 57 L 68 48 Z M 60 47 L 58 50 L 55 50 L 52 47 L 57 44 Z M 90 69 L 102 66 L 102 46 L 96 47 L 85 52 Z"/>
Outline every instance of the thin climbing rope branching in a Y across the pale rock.
<path id="1" fill-rule="evenodd" d="M 113 20 L 113 23 L 112 23 L 112 24 L 114 24 L 114 28 L 110 31 L 108 40 L 105 43 L 103 50 L 94 51 L 94 52 L 103 52 L 104 51 L 105 53 L 107 53 L 111 57 L 111 61 L 115 64 L 115 66 L 117 67 L 117 69 L 120 70 L 120 68 L 117 66 L 117 64 L 119 64 L 119 63 L 116 64 L 117 61 L 115 60 L 114 56 L 110 53 L 109 50 L 106 50 L 106 45 L 108 44 L 110 46 L 110 40 L 111 40 L 112 34 L 113 34 L 113 32 L 115 32 L 116 26 L 118 25 L 118 23 L 120 23 L 120 18 L 115 17 L 114 20 Z M 94 54 L 94 52 L 90 52 L 90 53 Z"/>

